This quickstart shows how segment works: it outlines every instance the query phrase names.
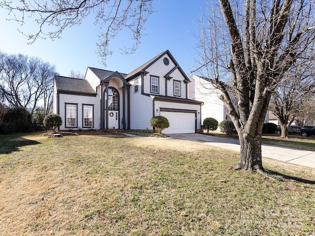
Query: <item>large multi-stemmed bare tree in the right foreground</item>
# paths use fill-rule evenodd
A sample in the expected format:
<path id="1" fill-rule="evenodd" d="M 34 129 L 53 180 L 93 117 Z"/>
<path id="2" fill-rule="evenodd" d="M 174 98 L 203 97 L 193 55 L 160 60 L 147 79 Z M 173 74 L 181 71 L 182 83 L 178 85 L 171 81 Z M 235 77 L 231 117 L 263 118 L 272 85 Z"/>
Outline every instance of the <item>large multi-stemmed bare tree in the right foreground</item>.
<path id="1" fill-rule="evenodd" d="M 211 1 L 201 17 L 200 57 L 193 72 L 211 78 L 240 141 L 237 170 L 262 173 L 261 133 L 273 91 L 300 58 L 314 50 L 309 0 Z M 231 81 L 229 83 L 222 83 Z M 233 106 L 231 94 L 236 99 Z"/>

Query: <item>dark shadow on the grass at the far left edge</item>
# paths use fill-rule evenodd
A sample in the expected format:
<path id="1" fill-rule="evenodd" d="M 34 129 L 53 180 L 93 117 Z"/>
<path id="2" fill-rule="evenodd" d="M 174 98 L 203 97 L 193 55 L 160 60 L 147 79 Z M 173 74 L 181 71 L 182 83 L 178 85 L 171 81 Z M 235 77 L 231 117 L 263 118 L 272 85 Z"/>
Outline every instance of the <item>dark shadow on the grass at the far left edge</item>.
<path id="1" fill-rule="evenodd" d="M 37 141 L 25 139 L 22 137 L 7 136 L 0 138 L 0 154 L 9 154 L 13 151 L 19 151 L 19 147 L 40 144 Z"/>

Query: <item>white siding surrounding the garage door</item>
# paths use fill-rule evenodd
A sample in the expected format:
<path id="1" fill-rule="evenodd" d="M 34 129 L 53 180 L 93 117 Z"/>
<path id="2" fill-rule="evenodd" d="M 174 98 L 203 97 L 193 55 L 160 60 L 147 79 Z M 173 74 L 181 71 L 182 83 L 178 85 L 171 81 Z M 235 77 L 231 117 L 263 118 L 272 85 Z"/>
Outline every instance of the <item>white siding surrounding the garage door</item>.
<path id="1" fill-rule="evenodd" d="M 160 108 L 197 111 L 197 129 L 201 129 L 200 105 L 155 101 L 155 116 L 160 116 Z"/>

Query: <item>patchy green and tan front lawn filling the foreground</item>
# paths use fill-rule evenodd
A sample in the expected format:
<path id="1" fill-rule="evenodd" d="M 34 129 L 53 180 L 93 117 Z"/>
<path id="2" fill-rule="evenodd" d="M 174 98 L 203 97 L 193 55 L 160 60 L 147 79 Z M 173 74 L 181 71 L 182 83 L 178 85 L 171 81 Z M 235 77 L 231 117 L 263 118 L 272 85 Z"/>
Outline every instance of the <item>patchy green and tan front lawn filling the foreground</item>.
<path id="1" fill-rule="evenodd" d="M 315 235 L 315 169 L 157 138 L 0 136 L 1 236 Z"/>

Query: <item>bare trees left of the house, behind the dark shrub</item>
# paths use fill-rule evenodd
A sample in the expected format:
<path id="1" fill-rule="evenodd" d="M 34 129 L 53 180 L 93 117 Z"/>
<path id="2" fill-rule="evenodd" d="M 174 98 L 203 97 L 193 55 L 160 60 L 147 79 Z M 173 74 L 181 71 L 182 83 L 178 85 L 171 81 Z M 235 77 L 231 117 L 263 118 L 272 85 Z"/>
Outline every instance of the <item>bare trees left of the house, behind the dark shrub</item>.
<path id="1" fill-rule="evenodd" d="M 31 115 L 43 99 L 45 108 L 52 100 L 55 66 L 38 58 L 0 53 L 0 91 L 12 107 L 28 108 Z"/>

